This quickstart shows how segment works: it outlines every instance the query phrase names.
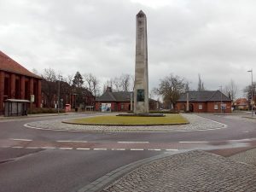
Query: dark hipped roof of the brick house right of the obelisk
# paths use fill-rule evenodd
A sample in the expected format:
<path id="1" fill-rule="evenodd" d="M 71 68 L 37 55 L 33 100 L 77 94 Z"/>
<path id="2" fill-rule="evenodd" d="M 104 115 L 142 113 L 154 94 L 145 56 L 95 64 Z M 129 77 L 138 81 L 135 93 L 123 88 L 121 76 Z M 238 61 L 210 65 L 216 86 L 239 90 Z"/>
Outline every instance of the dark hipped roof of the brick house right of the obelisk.
<path id="1" fill-rule="evenodd" d="M 219 90 L 187 91 L 177 102 L 187 102 L 187 93 L 189 93 L 189 102 L 231 102 L 231 99 Z"/>

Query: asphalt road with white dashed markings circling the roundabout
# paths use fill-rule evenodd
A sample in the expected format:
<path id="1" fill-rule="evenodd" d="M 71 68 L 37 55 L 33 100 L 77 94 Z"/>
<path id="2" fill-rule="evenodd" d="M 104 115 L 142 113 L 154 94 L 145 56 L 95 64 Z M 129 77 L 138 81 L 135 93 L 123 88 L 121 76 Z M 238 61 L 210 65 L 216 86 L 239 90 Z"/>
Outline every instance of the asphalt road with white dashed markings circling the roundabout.
<path id="1" fill-rule="evenodd" d="M 71 116 L 2 119 L 0 192 L 77 191 L 120 166 L 168 153 L 168 149 L 234 148 L 248 143 L 243 139 L 256 138 L 255 122 L 203 116 L 228 126 L 214 131 L 86 133 L 41 131 L 23 126 L 32 121 Z"/>

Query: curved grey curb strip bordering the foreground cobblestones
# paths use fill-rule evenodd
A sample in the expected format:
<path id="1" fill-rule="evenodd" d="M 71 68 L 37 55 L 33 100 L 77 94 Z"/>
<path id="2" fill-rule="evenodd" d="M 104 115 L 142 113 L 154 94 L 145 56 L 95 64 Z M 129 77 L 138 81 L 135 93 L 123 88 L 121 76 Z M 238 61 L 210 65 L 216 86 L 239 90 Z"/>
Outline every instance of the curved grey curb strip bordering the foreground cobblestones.
<path id="1" fill-rule="evenodd" d="M 105 187 L 107 187 L 109 184 L 116 181 L 119 177 L 122 177 L 125 174 L 127 174 L 129 172 L 132 172 L 133 170 L 135 170 L 139 166 L 143 166 L 144 164 L 147 164 L 151 161 L 160 160 L 162 158 L 171 156 L 173 154 L 180 154 L 180 153 L 187 152 L 187 151 L 189 151 L 189 150 L 188 149 L 178 150 L 178 151 L 175 151 L 175 152 L 168 152 L 168 154 L 158 154 L 158 155 L 155 155 L 153 157 L 149 157 L 149 158 L 146 158 L 146 159 L 143 159 L 143 160 L 137 160 L 137 161 L 135 161 L 133 163 L 130 163 L 128 165 L 121 166 L 121 167 L 113 170 L 112 172 L 108 172 L 108 174 L 96 179 L 92 183 L 89 183 L 89 184 L 85 185 L 83 188 L 79 189 L 77 192 L 97 192 L 97 191 L 100 191 L 100 190 L 104 189 Z"/>

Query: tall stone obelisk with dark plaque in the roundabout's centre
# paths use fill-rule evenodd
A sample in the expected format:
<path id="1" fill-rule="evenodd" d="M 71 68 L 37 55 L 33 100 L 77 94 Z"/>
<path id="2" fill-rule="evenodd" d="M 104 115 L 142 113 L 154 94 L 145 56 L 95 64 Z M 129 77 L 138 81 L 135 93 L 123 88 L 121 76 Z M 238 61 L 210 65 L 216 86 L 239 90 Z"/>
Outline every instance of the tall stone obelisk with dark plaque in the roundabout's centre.
<path id="1" fill-rule="evenodd" d="M 134 113 L 148 113 L 147 17 L 142 10 L 136 16 Z"/>

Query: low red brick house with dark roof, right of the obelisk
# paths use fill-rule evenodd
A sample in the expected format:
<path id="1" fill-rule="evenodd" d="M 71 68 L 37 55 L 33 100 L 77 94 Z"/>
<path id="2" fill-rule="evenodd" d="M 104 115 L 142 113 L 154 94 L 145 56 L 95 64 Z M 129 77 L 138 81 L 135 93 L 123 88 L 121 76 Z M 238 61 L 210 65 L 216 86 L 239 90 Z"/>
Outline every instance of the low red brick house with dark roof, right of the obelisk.
<path id="1" fill-rule="evenodd" d="M 177 100 L 178 111 L 186 111 L 187 98 L 189 112 L 231 113 L 231 99 L 219 90 L 187 91 Z"/>

